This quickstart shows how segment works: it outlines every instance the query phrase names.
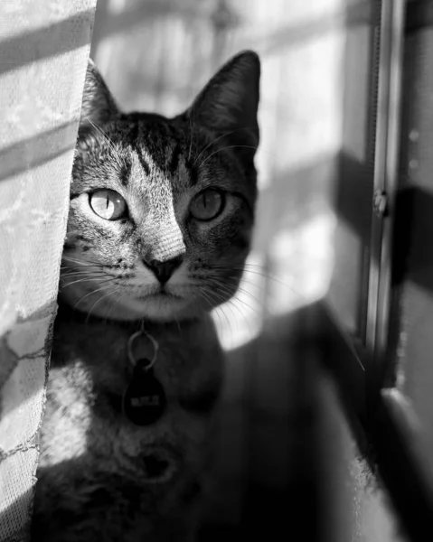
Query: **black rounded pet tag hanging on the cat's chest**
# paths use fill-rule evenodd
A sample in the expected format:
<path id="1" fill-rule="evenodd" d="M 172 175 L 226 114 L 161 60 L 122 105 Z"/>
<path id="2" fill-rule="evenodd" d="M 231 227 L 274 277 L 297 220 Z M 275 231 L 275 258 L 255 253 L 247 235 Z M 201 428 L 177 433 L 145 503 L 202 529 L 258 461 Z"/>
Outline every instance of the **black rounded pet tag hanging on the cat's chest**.
<path id="1" fill-rule="evenodd" d="M 155 378 L 149 360 L 136 360 L 131 380 L 123 395 L 123 412 L 135 425 L 151 425 L 164 414 L 165 391 Z M 148 369 L 147 369 L 148 368 Z"/>

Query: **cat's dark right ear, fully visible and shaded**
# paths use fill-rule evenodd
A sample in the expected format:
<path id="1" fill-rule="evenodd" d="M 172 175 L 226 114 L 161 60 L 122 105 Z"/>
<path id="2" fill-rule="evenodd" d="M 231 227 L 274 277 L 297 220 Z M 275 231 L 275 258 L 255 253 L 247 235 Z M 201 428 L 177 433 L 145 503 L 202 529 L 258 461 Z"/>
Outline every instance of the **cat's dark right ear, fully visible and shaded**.
<path id="1" fill-rule="evenodd" d="M 260 61 L 254 51 L 242 51 L 228 61 L 195 98 L 186 115 L 243 155 L 254 156 L 259 145 Z"/>

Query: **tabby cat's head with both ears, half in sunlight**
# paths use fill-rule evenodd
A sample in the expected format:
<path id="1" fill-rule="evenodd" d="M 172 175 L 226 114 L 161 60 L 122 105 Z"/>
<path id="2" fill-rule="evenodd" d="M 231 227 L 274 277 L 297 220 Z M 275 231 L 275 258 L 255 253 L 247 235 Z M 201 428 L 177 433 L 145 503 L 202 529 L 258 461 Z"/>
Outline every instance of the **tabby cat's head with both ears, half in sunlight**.
<path id="1" fill-rule="evenodd" d="M 121 113 L 89 62 L 61 272 L 67 303 L 173 321 L 231 298 L 254 221 L 258 105 L 252 51 L 174 118 Z"/>

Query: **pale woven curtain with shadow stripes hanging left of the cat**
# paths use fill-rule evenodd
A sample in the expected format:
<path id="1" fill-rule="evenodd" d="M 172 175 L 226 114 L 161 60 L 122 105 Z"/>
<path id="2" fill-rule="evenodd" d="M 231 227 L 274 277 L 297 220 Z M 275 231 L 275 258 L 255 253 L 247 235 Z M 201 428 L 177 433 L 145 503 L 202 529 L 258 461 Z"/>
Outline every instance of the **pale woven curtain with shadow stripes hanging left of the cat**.
<path id="1" fill-rule="evenodd" d="M 95 6 L 0 3 L 0 541 L 28 536 Z"/>

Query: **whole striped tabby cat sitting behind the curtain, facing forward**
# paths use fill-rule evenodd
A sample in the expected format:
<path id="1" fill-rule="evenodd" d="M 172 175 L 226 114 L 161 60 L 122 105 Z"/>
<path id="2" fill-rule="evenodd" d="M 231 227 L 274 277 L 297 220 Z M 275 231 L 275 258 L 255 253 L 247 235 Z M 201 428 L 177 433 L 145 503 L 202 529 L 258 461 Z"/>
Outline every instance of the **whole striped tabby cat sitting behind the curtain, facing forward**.
<path id="1" fill-rule="evenodd" d="M 259 76 L 240 52 L 167 118 L 122 113 L 89 61 L 33 541 L 195 539 L 223 378 L 211 311 L 254 225 Z"/>

